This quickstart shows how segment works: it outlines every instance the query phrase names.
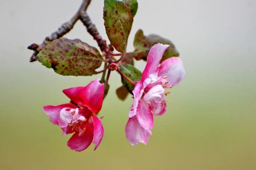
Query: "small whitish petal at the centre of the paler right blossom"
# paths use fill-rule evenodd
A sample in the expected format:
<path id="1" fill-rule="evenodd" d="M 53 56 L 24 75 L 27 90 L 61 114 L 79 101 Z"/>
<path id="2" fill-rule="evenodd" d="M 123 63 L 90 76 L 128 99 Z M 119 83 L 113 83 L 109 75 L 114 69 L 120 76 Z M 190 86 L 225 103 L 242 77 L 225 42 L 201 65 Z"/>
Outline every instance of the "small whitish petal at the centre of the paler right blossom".
<path id="1" fill-rule="evenodd" d="M 165 100 L 165 89 L 161 85 L 155 85 L 145 94 L 143 100 L 146 102 L 150 102 L 151 100 L 162 102 Z"/>

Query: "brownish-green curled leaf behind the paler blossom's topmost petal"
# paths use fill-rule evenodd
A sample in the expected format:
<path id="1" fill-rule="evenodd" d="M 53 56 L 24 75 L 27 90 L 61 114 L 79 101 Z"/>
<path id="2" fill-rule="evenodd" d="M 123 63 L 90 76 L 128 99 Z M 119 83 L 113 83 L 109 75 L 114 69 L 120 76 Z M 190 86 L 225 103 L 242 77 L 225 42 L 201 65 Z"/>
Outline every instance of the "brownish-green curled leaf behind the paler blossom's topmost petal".
<path id="1" fill-rule="evenodd" d="M 134 41 L 133 41 L 133 46 L 135 48 L 135 51 L 132 52 L 131 55 L 133 55 L 133 57 L 136 60 L 141 60 L 141 59 L 147 60 L 147 55 L 149 53 L 150 48 L 157 43 L 170 45 L 166 49 L 161 62 L 171 57 L 179 57 L 179 52 L 177 51 L 177 49 L 175 48 L 175 45 L 170 40 L 155 34 L 150 34 L 148 36 L 145 36 L 141 29 L 139 29 L 135 34 Z"/>

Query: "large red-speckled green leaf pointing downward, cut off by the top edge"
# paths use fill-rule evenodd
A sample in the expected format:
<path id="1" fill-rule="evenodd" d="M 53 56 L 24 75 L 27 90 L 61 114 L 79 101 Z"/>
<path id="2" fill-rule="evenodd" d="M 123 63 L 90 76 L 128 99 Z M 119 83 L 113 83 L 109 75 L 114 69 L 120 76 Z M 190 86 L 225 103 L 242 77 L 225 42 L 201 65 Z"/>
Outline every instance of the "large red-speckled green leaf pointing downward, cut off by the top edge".
<path id="1" fill-rule="evenodd" d="M 117 0 L 105 0 L 103 19 L 111 44 L 120 53 L 125 53 L 133 16 L 127 6 Z"/>

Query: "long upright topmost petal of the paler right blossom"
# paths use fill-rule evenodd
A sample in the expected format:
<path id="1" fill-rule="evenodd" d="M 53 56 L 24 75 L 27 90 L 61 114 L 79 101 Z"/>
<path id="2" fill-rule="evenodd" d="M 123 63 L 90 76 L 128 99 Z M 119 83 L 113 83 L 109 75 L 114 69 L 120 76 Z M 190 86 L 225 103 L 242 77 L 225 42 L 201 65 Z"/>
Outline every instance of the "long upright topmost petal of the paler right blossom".
<path id="1" fill-rule="evenodd" d="M 149 77 L 150 74 L 157 71 L 157 67 L 165 53 L 165 50 L 169 47 L 169 45 L 163 44 L 155 44 L 151 47 L 149 54 L 147 56 L 147 64 L 142 72 L 141 81 L 144 82 L 146 78 Z"/>

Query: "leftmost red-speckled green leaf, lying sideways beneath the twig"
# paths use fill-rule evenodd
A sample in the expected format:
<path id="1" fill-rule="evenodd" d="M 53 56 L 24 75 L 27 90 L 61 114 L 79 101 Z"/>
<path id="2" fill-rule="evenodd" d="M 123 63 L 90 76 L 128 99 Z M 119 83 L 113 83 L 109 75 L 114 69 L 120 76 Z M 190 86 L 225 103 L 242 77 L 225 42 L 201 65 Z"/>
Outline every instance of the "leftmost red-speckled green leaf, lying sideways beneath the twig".
<path id="1" fill-rule="evenodd" d="M 44 46 L 36 60 L 64 76 L 91 76 L 103 59 L 95 47 L 79 39 L 60 38 Z"/>

